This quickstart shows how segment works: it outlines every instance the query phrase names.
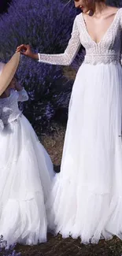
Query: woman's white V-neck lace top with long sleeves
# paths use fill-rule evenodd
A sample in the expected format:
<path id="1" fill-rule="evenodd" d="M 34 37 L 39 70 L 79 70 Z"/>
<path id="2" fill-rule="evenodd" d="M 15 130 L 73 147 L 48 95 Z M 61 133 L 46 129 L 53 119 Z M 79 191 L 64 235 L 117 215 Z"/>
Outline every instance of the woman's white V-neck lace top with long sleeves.
<path id="1" fill-rule="evenodd" d="M 99 43 L 95 43 L 87 32 L 83 14 L 76 16 L 72 36 L 64 54 L 39 54 L 39 61 L 54 65 L 70 65 L 81 44 L 86 49 L 85 63 L 114 64 L 120 62 L 122 52 L 122 8 L 118 9 L 113 22 Z"/>

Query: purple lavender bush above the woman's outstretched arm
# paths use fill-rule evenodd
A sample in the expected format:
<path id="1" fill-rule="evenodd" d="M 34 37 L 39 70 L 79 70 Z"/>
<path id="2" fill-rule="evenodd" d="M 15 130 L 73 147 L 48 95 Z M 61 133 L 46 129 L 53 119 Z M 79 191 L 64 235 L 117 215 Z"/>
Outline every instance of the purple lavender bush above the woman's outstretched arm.
<path id="1" fill-rule="evenodd" d="M 18 44 L 31 43 L 36 51 L 60 53 L 68 43 L 75 17 L 72 2 L 65 6 L 61 0 L 13 0 L 1 17 L 1 52 L 7 56 Z"/>

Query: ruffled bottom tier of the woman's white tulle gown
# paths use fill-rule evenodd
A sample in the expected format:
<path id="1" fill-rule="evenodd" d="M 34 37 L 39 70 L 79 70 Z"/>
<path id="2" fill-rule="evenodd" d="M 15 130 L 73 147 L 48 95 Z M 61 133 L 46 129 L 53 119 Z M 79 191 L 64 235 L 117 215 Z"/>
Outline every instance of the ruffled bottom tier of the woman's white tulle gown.
<path id="1" fill-rule="evenodd" d="M 59 180 L 55 178 L 51 199 L 46 203 L 49 232 L 60 233 L 63 238 L 80 237 L 84 244 L 113 236 L 122 239 L 122 196 L 100 195 L 81 187 L 82 195 L 75 198 L 68 186 L 62 191 Z"/>

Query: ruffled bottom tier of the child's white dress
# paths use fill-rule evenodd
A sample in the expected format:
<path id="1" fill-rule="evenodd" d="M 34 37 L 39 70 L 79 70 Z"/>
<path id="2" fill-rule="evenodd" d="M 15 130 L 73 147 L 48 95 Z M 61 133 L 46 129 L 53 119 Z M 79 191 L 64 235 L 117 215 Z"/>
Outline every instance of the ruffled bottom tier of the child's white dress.
<path id="1" fill-rule="evenodd" d="M 7 245 L 46 242 L 46 211 L 40 192 L 36 192 L 30 200 L 9 198 L 0 208 L 0 235 Z"/>

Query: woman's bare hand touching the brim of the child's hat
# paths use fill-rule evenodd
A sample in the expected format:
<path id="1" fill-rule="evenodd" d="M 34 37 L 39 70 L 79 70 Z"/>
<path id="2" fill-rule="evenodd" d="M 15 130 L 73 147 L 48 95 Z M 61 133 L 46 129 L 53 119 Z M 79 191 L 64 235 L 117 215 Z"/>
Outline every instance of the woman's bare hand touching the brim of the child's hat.
<path id="1" fill-rule="evenodd" d="M 31 51 L 31 46 L 29 44 L 21 44 L 17 47 L 16 53 L 20 52 L 20 54 L 23 54 L 24 56 L 27 56 L 29 58 L 33 58 L 34 60 L 39 60 L 38 54 L 34 54 Z"/>

